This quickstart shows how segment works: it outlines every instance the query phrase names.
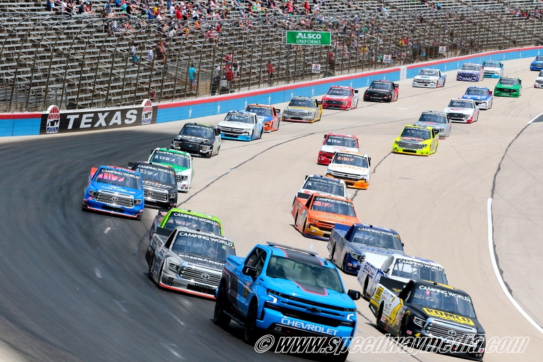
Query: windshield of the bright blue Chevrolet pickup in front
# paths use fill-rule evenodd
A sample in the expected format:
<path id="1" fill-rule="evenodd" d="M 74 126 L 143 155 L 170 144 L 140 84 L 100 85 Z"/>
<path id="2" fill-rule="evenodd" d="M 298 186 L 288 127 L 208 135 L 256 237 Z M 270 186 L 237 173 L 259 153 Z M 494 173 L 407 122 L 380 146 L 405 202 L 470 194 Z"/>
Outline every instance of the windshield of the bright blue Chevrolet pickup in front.
<path id="1" fill-rule="evenodd" d="M 302 285 L 314 285 L 345 293 L 339 274 L 331 267 L 303 263 L 293 258 L 274 255 L 269 258 L 266 274 L 270 278 L 287 279 Z"/>

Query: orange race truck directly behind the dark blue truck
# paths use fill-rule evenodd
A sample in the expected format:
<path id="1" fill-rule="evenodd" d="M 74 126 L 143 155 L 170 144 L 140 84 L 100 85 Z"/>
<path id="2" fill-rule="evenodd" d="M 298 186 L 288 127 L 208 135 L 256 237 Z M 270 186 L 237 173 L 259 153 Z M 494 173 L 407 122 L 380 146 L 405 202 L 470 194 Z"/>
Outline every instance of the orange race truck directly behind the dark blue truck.
<path id="1" fill-rule="evenodd" d="M 336 223 L 359 223 L 354 205 L 350 200 L 313 193 L 309 199 L 296 198 L 292 206 L 294 228 L 304 237 L 328 240 Z"/>

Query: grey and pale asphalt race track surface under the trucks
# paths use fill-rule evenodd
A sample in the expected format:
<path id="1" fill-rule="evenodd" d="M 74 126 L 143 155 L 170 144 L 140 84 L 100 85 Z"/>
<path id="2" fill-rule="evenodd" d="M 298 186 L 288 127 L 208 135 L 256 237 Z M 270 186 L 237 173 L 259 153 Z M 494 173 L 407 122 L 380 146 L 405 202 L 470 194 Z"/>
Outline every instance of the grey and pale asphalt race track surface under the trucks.
<path id="1" fill-rule="evenodd" d="M 326 257 L 325 242 L 293 228 L 291 204 L 304 176 L 326 169 L 316 164 L 322 136 L 356 134 L 373 171 L 367 191 L 351 191 L 359 219 L 398 231 L 407 254 L 444 265 L 450 284 L 472 296 L 487 339 L 530 338 L 522 354 L 487 353 L 485 361 L 541 361 L 543 334 L 498 284 L 487 234 L 493 197 L 498 267 L 520 306 L 543 325 L 543 123 L 525 128 L 543 113 L 543 89 L 531 88 L 536 72 L 529 71 L 530 62 L 505 62 L 505 73 L 523 81 L 520 98 L 496 98 L 478 122 L 453 124 L 432 156 L 390 154 L 391 145 L 422 110 L 443 110 L 468 86 L 494 88 L 496 80 L 457 82 L 456 71 L 439 89 L 411 88 L 406 80 L 392 104 L 360 101 L 357 110 L 325 110 L 317 123 L 281 123 L 258 141 L 223 141 L 217 157 L 195 159 L 193 189 L 180 194 L 180 206 L 221 218 L 240 255 L 276 241 Z M 222 117 L 197 121 L 216 124 Z M 304 361 L 254 352 L 241 341 L 239 326 L 213 324 L 213 301 L 152 284 L 144 254 L 155 210 L 146 209 L 143 221 L 81 210 L 90 167 L 147 159 L 154 147 L 168 147 L 183 123 L 1 138 L 1 361 Z M 361 289 L 354 276 L 343 275 L 343 281 Z M 357 335 L 381 337 L 367 302 L 357 304 Z M 455 357 L 398 352 L 348 358 L 368 360 Z"/>

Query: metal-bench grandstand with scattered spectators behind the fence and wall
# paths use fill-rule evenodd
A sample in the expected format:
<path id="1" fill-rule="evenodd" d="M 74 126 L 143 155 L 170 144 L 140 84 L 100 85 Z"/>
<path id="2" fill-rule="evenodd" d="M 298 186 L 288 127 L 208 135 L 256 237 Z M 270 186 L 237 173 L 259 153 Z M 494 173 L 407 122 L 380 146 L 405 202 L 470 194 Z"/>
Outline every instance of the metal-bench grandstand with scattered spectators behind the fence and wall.
<path id="1" fill-rule="evenodd" d="M 264 8 L 259 2 L 231 0 L 217 2 L 212 16 L 198 9 L 200 19 L 190 14 L 176 19 L 177 14 L 165 9 L 166 0 L 158 5 L 164 19 L 148 19 L 145 5 L 136 1 L 143 8 L 138 8 L 139 17 L 135 11 L 99 14 L 105 3 L 90 8 L 96 14 L 67 14 L 60 11 L 65 6 L 61 3 L 49 11 L 40 1 L 0 0 L 2 112 L 42 111 L 51 104 L 101 108 L 139 104 L 146 98 L 205 97 L 214 76 L 221 78 L 219 93 L 269 86 L 269 61 L 274 66 L 272 85 L 287 84 L 539 45 L 543 33 L 543 12 L 538 3 L 525 0 L 324 0 L 318 13 L 313 1 L 309 11 L 298 1 L 289 12 L 288 3 L 279 1 Z M 114 2 L 111 7 L 115 9 Z M 333 45 L 285 45 L 286 29 L 330 31 Z M 160 42 L 165 62 L 158 54 Z M 139 58 L 135 64 L 132 45 Z M 446 47 L 446 53 L 439 53 L 439 47 Z M 154 51 L 152 60 L 147 60 L 149 49 Z M 335 62 L 328 62 L 328 51 Z M 382 61 L 385 54 L 391 55 L 391 63 Z M 187 79 L 191 64 L 197 69 L 195 93 L 189 92 Z M 311 64 L 322 64 L 321 73 L 311 73 Z M 224 79 L 230 77 L 229 69 L 231 81 Z"/>

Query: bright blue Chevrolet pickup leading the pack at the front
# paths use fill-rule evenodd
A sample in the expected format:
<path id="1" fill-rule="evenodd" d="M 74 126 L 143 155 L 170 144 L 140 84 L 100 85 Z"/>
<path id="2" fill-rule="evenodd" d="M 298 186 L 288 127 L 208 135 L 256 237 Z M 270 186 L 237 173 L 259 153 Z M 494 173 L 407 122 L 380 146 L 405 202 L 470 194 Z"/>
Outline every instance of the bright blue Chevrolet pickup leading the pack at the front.
<path id="1" fill-rule="evenodd" d="M 246 258 L 228 256 L 217 291 L 213 322 L 243 326 L 243 341 L 265 332 L 343 339 L 357 330 L 360 292 L 346 292 L 336 267 L 315 252 L 287 245 L 256 245 Z M 348 349 L 328 354 L 345 361 Z"/>

